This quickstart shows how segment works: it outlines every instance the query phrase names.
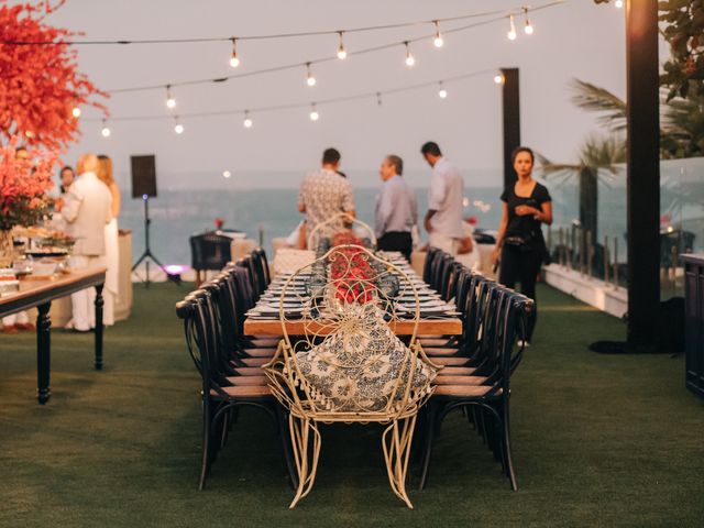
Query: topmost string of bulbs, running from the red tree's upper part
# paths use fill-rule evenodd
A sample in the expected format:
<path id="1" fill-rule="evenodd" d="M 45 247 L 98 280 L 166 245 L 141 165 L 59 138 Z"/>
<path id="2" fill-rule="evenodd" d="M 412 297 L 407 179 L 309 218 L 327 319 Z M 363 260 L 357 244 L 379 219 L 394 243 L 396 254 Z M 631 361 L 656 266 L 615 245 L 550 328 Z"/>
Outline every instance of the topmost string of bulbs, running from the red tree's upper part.
<path id="1" fill-rule="evenodd" d="M 552 3 L 563 3 L 568 0 L 559 0 Z M 536 8 L 538 9 L 538 8 Z M 531 9 L 535 11 L 536 9 Z M 444 19 L 430 19 L 430 20 L 417 20 L 410 22 L 396 22 L 392 24 L 378 24 L 366 25 L 359 28 L 349 28 L 343 30 L 322 30 L 322 31 L 300 31 L 289 33 L 268 33 L 260 35 L 243 35 L 238 36 L 239 41 L 265 41 L 274 38 L 297 38 L 307 36 L 323 36 L 336 35 L 340 31 L 343 33 L 363 33 L 372 31 L 395 30 L 399 28 L 414 28 L 422 26 L 436 23 L 459 22 L 462 20 L 481 19 L 484 16 L 493 16 L 496 14 L 506 13 L 505 9 L 482 11 L 475 13 L 460 14 L 457 16 L 447 16 Z M 103 41 L 2 41 L 2 44 L 15 45 L 15 46 L 52 46 L 52 45 L 69 45 L 69 46 L 92 46 L 92 45 L 130 45 L 130 44 L 195 44 L 195 43 L 208 43 L 208 42 L 231 42 L 232 36 L 209 36 L 209 37 L 185 37 L 185 38 L 121 38 L 121 40 L 103 40 Z"/>

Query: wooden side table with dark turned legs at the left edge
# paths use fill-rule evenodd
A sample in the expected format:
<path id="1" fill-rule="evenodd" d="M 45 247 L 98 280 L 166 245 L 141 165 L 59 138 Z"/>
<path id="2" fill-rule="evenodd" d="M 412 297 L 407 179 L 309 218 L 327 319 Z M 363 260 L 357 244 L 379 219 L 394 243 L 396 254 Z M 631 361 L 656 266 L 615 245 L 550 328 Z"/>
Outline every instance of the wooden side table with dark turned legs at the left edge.
<path id="1" fill-rule="evenodd" d="M 0 297 L 0 317 L 18 311 L 36 308 L 36 378 L 37 399 L 44 405 L 51 396 L 51 328 L 48 310 L 52 301 L 81 289 L 96 288 L 96 329 L 95 363 L 96 370 L 102 369 L 102 287 L 106 282 L 106 268 L 72 271 L 50 278 L 25 278 L 20 280 L 20 290 Z"/>

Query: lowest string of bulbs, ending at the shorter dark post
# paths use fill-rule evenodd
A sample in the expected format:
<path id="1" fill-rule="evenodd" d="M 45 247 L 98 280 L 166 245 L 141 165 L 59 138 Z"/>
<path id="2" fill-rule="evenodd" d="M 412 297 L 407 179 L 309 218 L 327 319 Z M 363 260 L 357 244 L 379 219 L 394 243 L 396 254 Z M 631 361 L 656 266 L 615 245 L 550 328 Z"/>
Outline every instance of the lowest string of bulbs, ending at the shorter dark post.
<path id="1" fill-rule="evenodd" d="M 443 84 L 443 86 L 450 84 L 450 82 L 458 82 L 458 81 L 462 81 L 462 80 L 466 80 L 466 79 L 471 79 L 471 78 L 475 78 L 475 77 L 481 77 L 481 76 L 488 76 L 492 74 L 496 73 L 497 68 L 487 68 L 487 69 L 482 69 L 479 72 L 472 72 L 472 73 L 468 73 L 468 74 L 462 74 L 462 75 L 457 75 L 453 77 L 443 77 L 442 79 L 435 79 L 431 81 L 427 81 L 427 82 L 418 82 L 415 85 L 407 85 L 407 86 L 403 86 L 403 87 L 398 87 L 398 88 L 391 88 L 388 90 L 375 90 L 375 91 L 365 91 L 362 94 L 355 94 L 355 95 L 351 95 L 351 96 L 342 96 L 342 97 L 333 97 L 333 98 L 328 98 L 328 99 L 316 99 L 316 108 L 320 108 L 321 106 L 326 106 L 326 105 L 336 105 L 336 103 L 341 103 L 341 102 L 350 102 L 350 101 L 358 101 L 358 100 L 363 100 L 363 99 L 371 99 L 371 100 L 376 100 L 378 101 L 381 99 L 382 96 L 388 96 L 388 95 L 394 95 L 394 94 L 402 94 L 405 91 L 413 91 L 413 90 L 418 90 L 421 88 L 428 88 L 431 86 L 437 87 L 440 82 Z M 306 101 L 306 102 L 290 102 L 290 103 L 283 103 L 283 105 L 273 105 L 273 106 L 265 106 L 265 107 L 246 107 L 245 109 L 235 109 L 235 110 L 215 110 L 215 111 L 206 111 L 206 112 L 186 112 L 186 113 L 179 113 L 179 119 L 193 119 L 193 118 L 213 118 L 213 117 L 219 117 L 219 116 L 242 116 L 245 111 L 248 112 L 248 116 L 251 116 L 253 113 L 264 113 L 264 112 L 275 112 L 275 111 L 282 111 L 282 110 L 294 110 L 294 109 L 300 109 L 300 108 L 311 108 L 311 103 L 310 101 Z M 128 117 L 111 117 L 110 121 L 160 121 L 160 120 L 164 120 L 164 119 L 173 119 L 173 117 L 170 116 L 164 116 L 164 114 L 160 114 L 160 116 L 128 116 Z M 86 121 L 100 121 L 100 118 L 88 118 L 86 119 Z"/>

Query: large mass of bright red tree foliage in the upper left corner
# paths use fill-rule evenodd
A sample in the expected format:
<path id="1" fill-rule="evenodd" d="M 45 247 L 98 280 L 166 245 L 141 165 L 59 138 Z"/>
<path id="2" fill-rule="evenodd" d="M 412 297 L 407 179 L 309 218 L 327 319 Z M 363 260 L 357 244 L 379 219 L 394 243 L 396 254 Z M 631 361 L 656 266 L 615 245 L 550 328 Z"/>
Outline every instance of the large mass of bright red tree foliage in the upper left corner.
<path id="1" fill-rule="evenodd" d="M 92 97 L 107 94 L 78 72 L 67 43 L 78 33 L 45 23 L 64 2 L 0 6 L 0 141 L 16 135 L 29 145 L 64 150 L 80 134 L 75 107 L 107 112 Z"/>

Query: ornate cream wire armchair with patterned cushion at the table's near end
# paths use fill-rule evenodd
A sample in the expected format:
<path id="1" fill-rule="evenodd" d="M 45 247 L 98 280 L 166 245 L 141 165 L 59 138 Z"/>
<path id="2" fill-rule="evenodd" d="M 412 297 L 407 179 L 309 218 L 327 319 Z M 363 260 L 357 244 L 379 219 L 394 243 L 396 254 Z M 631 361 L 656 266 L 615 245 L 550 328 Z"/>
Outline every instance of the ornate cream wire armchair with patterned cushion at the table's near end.
<path id="1" fill-rule="evenodd" d="M 399 299 L 408 296 L 415 302 L 402 307 Z M 292 297 L 302 311 L 286 311 L 284 301 Z M 417 340 L 420 312 L 413 282 L 369 250 L 341 245 L 293 274 L 280 299 L 284 339 L 265 371 L 274 395 L 289 410 L 300 461 L 290 507 L 312 488 L 320 422 L 386 425 L 382 447 L 389 483 L 413 507 L 406 494 L 410 440 L 436 374 Z M 294 323 L 297 339 L 289 333 Z M 408 345 L 394 332 L 402 323 L 413 326 Z"/>

